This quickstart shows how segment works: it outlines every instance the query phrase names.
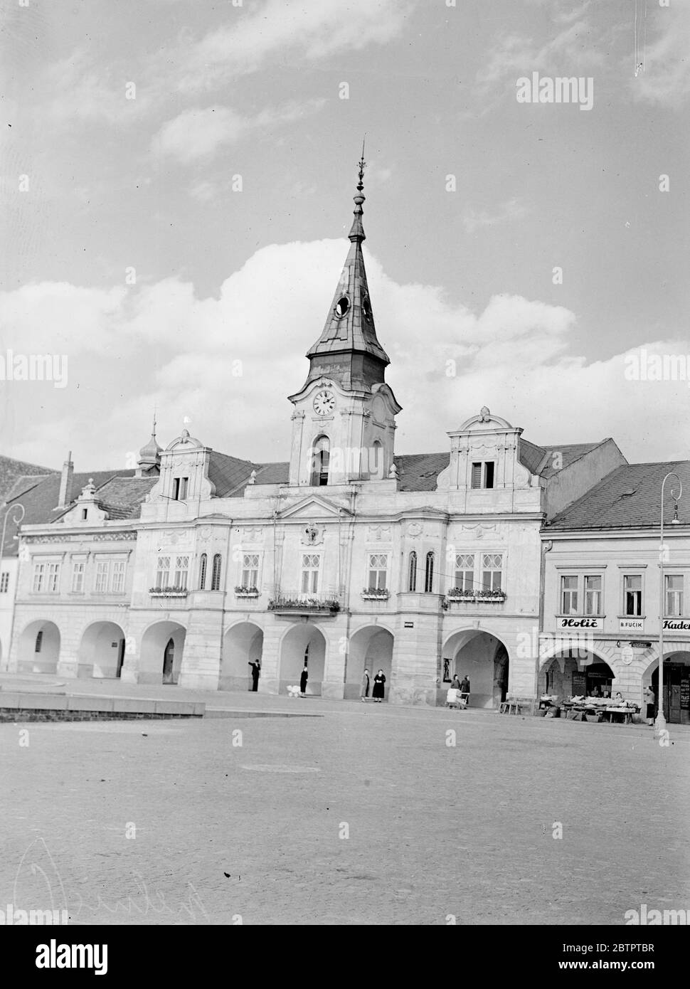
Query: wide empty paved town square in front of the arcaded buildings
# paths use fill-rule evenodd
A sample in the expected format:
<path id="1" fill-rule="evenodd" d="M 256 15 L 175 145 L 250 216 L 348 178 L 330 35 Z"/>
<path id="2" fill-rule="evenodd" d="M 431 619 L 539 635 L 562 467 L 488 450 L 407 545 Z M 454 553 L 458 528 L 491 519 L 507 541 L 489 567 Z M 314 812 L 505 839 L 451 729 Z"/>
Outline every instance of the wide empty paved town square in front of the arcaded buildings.
<path id="1" fill-rule="evenodd" d="M 687 730 L 661 748 L 641 727 L 210 697 L 324 716 L 0 725 L 0 909 L 66 906 L 97 924 L 620 925 L 642 903 L 690 908 Z"/>

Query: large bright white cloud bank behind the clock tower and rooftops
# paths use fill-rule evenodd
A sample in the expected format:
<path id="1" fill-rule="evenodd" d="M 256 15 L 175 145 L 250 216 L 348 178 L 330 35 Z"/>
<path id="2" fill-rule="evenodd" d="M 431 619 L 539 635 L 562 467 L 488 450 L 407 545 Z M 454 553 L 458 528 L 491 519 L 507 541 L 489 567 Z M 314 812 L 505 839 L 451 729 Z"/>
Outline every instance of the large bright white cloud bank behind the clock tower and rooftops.
<path id="1" fill-rule="evenodd" d="M 327 315 L 347 244 L 273 244 L 200 299 L 169 278 L 107 291 L 64 283 L 0 297 L 0 350 L 65 353 L 67 388 L 3 383 L 2 452 L 80 470 L 126 465 L 147 438 L 154 405 L 161 442 L 183 416 L 205 443 L 234 456 L 286 460 L 304 353 Z M 631 459 L 682 456 L 668 430 L 687 404 L 686 381 L 628 380 L 625 353 L 588 363 L 572 350 L 576 316 L 563 307 L 497 295 L 481 312 L 436 286 L 398 284 L 367 255 L 387 380 L 403 411 L 398 452 L 448 449 L 446 432 L 482 405 L 525 427 L 534 442 L 612 435 Z M 687 353 L 682 337 L 648 355 Z"/>

